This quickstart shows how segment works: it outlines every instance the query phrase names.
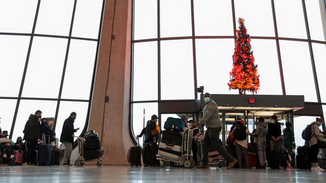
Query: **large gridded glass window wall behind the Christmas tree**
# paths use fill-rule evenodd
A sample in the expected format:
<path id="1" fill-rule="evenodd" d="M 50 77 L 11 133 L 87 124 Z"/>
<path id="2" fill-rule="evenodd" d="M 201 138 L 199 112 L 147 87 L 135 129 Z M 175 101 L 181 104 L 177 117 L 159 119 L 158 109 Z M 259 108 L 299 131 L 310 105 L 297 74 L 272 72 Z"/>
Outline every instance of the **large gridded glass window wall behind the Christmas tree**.
<path id="1" fill-rule="evenodd" d="M 141 130 L 136 124 L 142 122 L 141 117 L 136 122 L 135 115 L 143 109 L 152 112 L 146 112 L 147 121 L 152 114 L 162 114 L 163 124 L 168 114 L 162 113 L 160 104 L 196 100 L 199 86 L 210 93 L 238 93 L 229 91 L 227 83 L 239 17 L 245 19 L 258 65 L 258 94 L 305 95 L 306 102 L 326 105 L 325 7 L 320 0 L 134 0 L 133 4 L 135 134 Z M 294 121 L 296 126 L 301 120 Z"/>

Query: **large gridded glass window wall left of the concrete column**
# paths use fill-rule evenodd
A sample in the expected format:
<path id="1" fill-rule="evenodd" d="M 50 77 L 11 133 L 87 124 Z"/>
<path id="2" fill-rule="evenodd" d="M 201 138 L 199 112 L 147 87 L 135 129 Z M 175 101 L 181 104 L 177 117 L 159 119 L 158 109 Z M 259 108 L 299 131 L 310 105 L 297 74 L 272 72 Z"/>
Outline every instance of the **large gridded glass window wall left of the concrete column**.
<path id="1" fill-rule="evenodd" d="M 87 128 L 104 0 L 0 2 L 0 127 L 16 142 L 30 114 Z"/>

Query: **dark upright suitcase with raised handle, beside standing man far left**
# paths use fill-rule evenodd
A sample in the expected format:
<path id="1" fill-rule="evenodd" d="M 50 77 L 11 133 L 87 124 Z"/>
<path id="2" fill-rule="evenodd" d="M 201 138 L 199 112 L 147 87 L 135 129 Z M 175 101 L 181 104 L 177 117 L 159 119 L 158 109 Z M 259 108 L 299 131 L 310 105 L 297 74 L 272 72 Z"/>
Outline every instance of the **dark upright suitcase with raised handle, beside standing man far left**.
<path id="1" fill-rule="evenodd" d="M 39 149 L 39 165 L 51 165 L 52 146 L 50 146 L 50 137 L 48 144 L 45 143 L 45 134 L 42 135 L 42 144 Z"/>

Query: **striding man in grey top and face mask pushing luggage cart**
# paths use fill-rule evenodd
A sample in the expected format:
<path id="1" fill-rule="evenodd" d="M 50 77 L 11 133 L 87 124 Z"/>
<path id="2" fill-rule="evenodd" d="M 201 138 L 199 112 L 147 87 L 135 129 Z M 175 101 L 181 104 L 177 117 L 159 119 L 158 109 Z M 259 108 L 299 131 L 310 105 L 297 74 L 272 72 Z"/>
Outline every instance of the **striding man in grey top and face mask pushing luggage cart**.
<path id="1" fill-rule="evenodd" d="M 219 138 L 222 130 L 222 123 L 219 115 L 219 108 L 217 104 L 211 98 L 209 93 L 204 95 L 205 106 L 203 110 L 203 118 L 198 122 L 198 125 L 206 126 L 207 130 L 204 137 L 204 153 L 203 153 L 203 165 L 196 166 L 196 168 L 209 168 L 208 166 L 208 150 L 212 145 L 220 154 L 229 162 L 229 166 L 226 169 L 232 168 L 238 161 L 229 155 L 225 149 L 220 145 Z"/>

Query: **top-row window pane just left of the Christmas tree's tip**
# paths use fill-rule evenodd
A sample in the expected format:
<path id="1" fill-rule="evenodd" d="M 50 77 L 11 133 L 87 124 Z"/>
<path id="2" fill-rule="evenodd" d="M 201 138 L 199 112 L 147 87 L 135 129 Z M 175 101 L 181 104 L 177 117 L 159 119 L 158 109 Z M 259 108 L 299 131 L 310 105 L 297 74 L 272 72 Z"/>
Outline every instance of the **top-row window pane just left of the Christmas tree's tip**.
<path id="1" fill-rule="evenodd" d="M 233 36 L 231 1 L 194 0 L 194 20 L 196 36 Z"/>

